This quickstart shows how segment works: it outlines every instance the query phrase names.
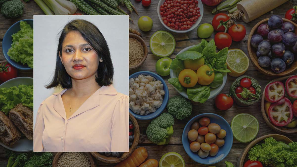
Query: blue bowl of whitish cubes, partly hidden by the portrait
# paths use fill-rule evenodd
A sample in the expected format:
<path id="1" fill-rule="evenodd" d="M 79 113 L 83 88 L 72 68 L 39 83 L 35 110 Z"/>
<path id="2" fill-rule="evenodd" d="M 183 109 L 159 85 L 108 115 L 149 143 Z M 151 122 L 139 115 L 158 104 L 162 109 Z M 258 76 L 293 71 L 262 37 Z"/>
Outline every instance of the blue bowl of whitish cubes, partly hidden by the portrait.
<path id="1" fill-rule="evenodd" d="M 149 120 L 149 119 L 153 119 L 155 117 L 157 117 L 158 115 L 160 115 L 162 113 L 162 111 L 165 109 L 167 102 L 168 102 L 168 98 L 169 98 L 169 92 L 168 92 L 168 87 L 165 83 L 165 81 L 163 80 L 162 77 L 160 77 L 158 74 L 152 73 L 150 71 L 139 71 L 137 73 L 134 73 L 132 75 L 129 76 L 130 78 L 136 78 L 138 77 L 138 75 L 151 75 L 152 77 L 156 78 L 157 80 L 161 81 L 162 84 L 164 85 L 163 90 L 165 91 L 165 95 L 163 97 L 163 103 L 161 105 L 161 107 L 159 107 L 155 112 L 147 114 L 147 115 L 140 115 L 140 114 L 135 114 L 132 110 L 130 110 L 129 108 L 129 112 L 137 119 L 140 120 Z"/>

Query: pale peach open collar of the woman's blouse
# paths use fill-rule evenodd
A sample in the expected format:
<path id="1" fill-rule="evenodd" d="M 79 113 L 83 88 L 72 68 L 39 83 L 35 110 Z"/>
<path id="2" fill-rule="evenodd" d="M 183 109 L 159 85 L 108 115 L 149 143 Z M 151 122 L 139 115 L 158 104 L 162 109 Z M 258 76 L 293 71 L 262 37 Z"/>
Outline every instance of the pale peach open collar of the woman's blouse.
<path id="1" fill-rule="evenodd" d="M 67 120 L 67 118 L 66 118 L 65 108 L 64 108 L 64 104 L 63 104 L 61 95 L 64 94 L 66 92 L 66 90 L 67 89 L 63 89 L 61 92 L 53 94 L 56 96 L 55 101 L 53 103 L 53 108 L 60 114 L 60 116 L 65 121 Z M 100 105 L 100 101 L 99 101 L 100 94 L 116 95 L 117 91 L 113 87 L 113 85 L 100 87 L 68 119 L 71 119 L 72 117 L 77 116 L 78 114 L 81 114 L 85 111 L 90 110 L 91 108 L 94 108 L 94 107 L 97 107 L 98 105 Z"/>

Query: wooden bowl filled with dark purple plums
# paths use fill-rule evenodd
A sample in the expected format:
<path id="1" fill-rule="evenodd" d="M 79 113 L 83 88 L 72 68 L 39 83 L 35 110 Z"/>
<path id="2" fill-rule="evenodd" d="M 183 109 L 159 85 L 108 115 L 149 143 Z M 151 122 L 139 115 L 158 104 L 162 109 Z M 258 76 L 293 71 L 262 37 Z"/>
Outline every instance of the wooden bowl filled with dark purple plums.
<path id="1" fill-rule="evenodd" d="M 271 69 L 262 68 L 258 64 L 258 58 L 257 58 L 257 55 L 256 55 L 257 48 L 253 48 L 251 46 L 251 39 L 252 39 L 252 36 L 257 32 L 258 27 L 261 24 L 267 24 L 268 20 L 269 20 L 269 18 L 266 18 L 266 19 L 260 21 L 251 30 L 251 32 L 249 34 L 249 40 L 247 42 L 247 49 L 249 51 L 249 58 L 251 59 L 251 62 L 256 67 L 256 69 L 258 71 L 260 71 L 261 73 L 265 74 L 265 75 L 273 76 L 273 77 L 281 77 L 281 76 L 290 75 L 290 74 L 294 73 L 294 71 L 297 69 L 297 61 L 296 60 L 291 64 L 290 68 L 286 68 L 285 71 L 283 71 L 281 73 L 274 73 Z M 293 21 L 290 21 L 288 19 L 285 19 L 285 18 L 283 18 L 283 21 L 292 23 L 295 26 L 295 34 L 297 34 L 297 24 L 296 23 L 294 23 Z"/>

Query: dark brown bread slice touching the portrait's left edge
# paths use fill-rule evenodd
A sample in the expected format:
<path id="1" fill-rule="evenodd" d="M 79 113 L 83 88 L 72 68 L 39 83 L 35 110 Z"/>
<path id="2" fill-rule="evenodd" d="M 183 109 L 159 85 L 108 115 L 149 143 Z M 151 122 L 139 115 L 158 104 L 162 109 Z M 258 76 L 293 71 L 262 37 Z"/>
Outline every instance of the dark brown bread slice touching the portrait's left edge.
<path id="1" fill-rule="evenodd" d="M 33 140 L 33 117 L 33 110 L 22 103 L 9 111 L 9 119 L 29 140 Z"/>

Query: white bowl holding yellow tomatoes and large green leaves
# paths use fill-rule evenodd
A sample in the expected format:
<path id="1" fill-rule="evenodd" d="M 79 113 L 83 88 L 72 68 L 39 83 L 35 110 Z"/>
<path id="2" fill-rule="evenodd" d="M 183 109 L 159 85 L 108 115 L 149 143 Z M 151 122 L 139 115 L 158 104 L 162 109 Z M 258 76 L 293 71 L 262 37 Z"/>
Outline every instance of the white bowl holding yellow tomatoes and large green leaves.
<path id="1" fill-rule="evenodd" d="M 195 45 L 192 45 L 192 46 L 189 46 L 189 47 L 187 47 L 187 48 L 184 48 L 184 49 L 181 50 L 178 54 L 181 54 L 181 53 L 187 51 L 189 48 L 192 48 L 193 46 L 195 46 Z M 170 78 L 178 78 L 178 74 L 179 74 L 179 73 L 176 73 L 176 72 L 174 72 L 173 70 L 170 70 Z M 211 98 L 217 96 L 217 95 L 222 91 L 222 89 L 224 88 L 224 86 L 225 86 L 225 84 L 226 84 L 226 81 L 227 81 L 227 73 L 222 73 L 222 74 L 223 74 L 223 83 L 222 83 L 222 85 L 220 85 L 220 86 L 217 87 L 217 88 L 210 88 L 210 95 L 209 95 L 208 99 L 211 99 Z M 176 89 L 175 87 L 174 87 L 174 89 L 175 89 L 179 94 L 181 94 L 183 97 L 189 99 L 186 90 L 179 91 L 179 90 Z"/>

